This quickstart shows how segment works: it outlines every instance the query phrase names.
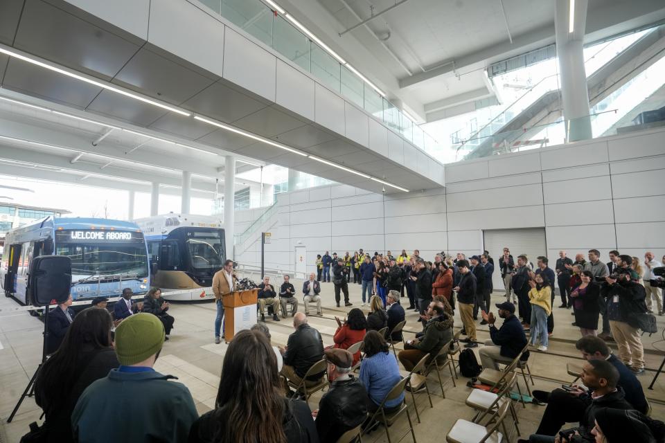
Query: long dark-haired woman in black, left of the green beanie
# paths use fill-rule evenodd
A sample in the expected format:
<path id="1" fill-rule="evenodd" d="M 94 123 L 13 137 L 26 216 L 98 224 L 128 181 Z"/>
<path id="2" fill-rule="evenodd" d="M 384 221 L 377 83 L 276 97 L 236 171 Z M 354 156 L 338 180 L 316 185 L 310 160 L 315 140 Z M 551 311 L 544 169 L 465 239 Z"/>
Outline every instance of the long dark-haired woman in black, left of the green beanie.
<path id="1" fill-rule="evenodd" d="M 111 316 L 105 309 L 84 309 L 64 341 L 35 379 L 35 402 L 44 410 L 44 442 L 73 442 L 71 413 L 83 390 L 118 368 L 111 342 Z"/>

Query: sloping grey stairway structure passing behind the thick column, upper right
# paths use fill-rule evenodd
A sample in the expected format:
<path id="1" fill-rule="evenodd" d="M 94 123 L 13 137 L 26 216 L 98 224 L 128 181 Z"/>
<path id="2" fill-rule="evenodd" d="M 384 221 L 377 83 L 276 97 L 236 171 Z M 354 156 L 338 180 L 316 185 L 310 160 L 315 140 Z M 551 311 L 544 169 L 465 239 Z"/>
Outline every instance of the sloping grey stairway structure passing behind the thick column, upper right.
<path id="1" fill-rule="evenodd" d="M 589 106 L 593 109 L 594 106 L 619 91 L 630 80 L 661 60 L 664 55 L 665 26 L 659 26 L 637 39 L 636 42 L 621 51 L 610 62 L 589 75 L 587 78 Z M 536 84 L 528 93 L 537 91 L 539 86 L 540 84 Z M 505 114 L 510 114 L 511 111 L 512 109 L 509 106 L 506 111 L 490 121 L 486 127 L 492 127 L 495 121 L 501 121 L 502 118 L 506 117 Z M 621 116 L 623 114 L 625 114 L 625 111 L 621 113 Z M 531 143 L 547 144 L 547 140 L 544 138 L 536 141 L 532 141 L 532 138 L 541 133 L 547 125 L 560 120 L 561 116 L 560 90 L 552 89 L 542 93 L 539 98 L 533 100 L 530 105 L 512 118 L 505 118 L 507 123 L 496 129 L 493 134 L 485 134 L 485 128 L 479 129 L 477 134 L 468 141 L 461 143 L 458 150 L 463 148 L 466 143 L 475 144 L 477 146 L 464 159 L 477 159 L 497 152 L 509 152 L 511 147 L 515 146 Z M 616 120 L 619 120 L 618 116 Z M 493 129 L 495 127 L 496 125 Z M 479 136 L 479 134 L 482 134 L 482 136 Z"/>

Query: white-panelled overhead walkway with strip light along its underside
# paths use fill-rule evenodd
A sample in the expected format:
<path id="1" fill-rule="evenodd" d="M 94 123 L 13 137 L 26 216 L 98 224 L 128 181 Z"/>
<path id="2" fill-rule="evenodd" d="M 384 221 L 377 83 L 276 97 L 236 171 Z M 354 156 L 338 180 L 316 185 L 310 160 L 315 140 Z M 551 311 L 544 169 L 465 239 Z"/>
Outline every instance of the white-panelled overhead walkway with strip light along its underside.
<path id="1" fill-rule="evenodd" d="M 349 99 L 196 0 L 17 0 L 1 24 L 3 88 L 373 192 L 445 184 L 380 96 Z M 288 26 L 281 46 L 309 42 Z"/>

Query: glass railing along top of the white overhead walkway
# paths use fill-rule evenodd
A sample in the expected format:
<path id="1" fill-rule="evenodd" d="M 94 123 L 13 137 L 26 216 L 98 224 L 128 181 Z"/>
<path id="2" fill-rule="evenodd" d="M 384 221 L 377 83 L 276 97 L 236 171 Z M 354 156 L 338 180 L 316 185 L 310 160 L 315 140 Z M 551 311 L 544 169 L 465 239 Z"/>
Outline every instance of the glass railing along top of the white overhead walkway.
<path id="1" fill-rule="evenodd" d="M 430 155 L 438 143 L 369 84 L 260 0 L 199 0 Z"/>

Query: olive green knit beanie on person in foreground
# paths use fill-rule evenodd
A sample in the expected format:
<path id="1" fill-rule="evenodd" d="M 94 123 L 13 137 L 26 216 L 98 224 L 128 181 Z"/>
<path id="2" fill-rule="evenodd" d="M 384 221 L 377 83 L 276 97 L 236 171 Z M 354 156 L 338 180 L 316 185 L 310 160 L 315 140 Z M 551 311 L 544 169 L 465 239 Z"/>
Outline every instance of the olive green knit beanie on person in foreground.
<path id="1" fill-rule="evenodd" d="M 164 326 L 152 314 L 134 314 L 116 328 L 116 355 L 121 365 L 135 365 L 157 354 L 163 344 Z"/>

